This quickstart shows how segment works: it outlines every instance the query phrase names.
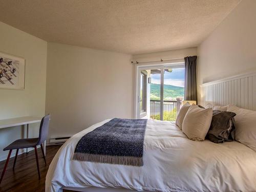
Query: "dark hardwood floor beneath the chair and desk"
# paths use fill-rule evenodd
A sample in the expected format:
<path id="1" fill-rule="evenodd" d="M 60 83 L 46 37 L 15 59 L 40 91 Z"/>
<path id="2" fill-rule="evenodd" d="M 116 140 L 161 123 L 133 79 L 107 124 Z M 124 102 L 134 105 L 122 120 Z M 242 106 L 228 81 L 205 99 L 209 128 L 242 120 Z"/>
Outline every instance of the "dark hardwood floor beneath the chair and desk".
<path id="1" fill-rule="evenodd" d="M 42 158 L 41 151 L 38 150 L 39 168 L 41 179 L 38 180 L 35 151 L 30 151 L 28 154 L 24 153 L 17 157 L 14 171 L 12 170 L 14 157 L 10 159 L 4 179 L 0 185 L 1 192 L 45 192 L 45 179 L 48 167 L 57 153 L 60 145 L 47 146 L 46 161 Z M 0 174 L 2 174 L 5 161 L 0 162 Z M 68 192 L 68 190 L 64 190 Z"/>

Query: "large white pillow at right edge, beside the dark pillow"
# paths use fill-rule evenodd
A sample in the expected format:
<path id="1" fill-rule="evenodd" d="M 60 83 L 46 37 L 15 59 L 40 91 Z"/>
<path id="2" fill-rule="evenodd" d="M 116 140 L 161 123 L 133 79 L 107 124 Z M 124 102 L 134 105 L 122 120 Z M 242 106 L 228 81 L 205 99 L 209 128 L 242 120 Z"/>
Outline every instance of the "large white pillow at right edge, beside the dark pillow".
<path id="1" fill-rule="evenodd" d="M 236 113 L 234 116 L 234 139 L 256 151 L 256 111 L 251 111 L 229 104 L 227 111 Z"/>

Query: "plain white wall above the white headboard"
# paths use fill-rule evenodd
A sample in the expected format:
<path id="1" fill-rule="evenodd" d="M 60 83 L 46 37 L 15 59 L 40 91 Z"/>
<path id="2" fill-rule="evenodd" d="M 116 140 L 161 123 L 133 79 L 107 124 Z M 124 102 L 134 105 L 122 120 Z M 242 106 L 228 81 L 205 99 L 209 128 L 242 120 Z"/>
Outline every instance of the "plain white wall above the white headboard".
<path id="1" fill-rule="evenodd" d="M 255 13 L 256 1 L 243 0 L 201 43 L 198 47 L 198 85 L 256 70 Z M 200 99 L 199 86 L 198 94 Z"/>

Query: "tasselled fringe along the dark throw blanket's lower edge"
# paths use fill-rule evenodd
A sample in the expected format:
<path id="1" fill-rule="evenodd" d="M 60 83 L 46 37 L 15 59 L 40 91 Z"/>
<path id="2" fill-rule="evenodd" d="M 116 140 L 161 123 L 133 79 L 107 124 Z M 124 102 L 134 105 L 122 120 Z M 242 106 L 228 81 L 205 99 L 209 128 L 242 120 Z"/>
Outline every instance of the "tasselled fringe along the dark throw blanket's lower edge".
<path id="1" fill-rule="evenodd" d="M 143 166 L 142 157 L 133 156 L 111 156 L 88 153 L 74 153 L 73 160 L 90 161 L 96 163 L 122 164 L 132 166 Z"/>

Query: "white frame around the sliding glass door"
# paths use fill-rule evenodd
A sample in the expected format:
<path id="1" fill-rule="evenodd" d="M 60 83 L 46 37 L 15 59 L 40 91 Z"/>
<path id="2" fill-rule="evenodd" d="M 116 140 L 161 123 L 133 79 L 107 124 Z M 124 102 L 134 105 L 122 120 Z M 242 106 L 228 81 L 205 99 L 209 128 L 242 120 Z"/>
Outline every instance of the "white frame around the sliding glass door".
<path id="1" fill-rule="evenodd" d="M 135 66 L 135 79 L 134 79 L 134 110 L 133 110 L 133 118 L 139 119 L 140 118 L 140 108 L 139 108 L 139 102 L 140 102 L 140 71 L 141 70 L 150 70 L 150 69 L 161 69 L 161 98 L 160 98 L 160 110 L 163 109 L 163 72 L 164 68 L 182 68 L 184 67 L 184 61 L 180 62 L 168 62 L 168 63 L 161 63 L 161 61 L 152 64 L 151 62 L 143 63 L 143 65 L 137 65 Z M 162 113 L 161 113 L 162 116 Z M 160 116 L 160 118 L 161 118 Z M 163 117 L 162 117 L 163 118 Z M 161 118 L 161 119 L 162 119 Z"/>

